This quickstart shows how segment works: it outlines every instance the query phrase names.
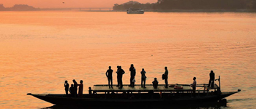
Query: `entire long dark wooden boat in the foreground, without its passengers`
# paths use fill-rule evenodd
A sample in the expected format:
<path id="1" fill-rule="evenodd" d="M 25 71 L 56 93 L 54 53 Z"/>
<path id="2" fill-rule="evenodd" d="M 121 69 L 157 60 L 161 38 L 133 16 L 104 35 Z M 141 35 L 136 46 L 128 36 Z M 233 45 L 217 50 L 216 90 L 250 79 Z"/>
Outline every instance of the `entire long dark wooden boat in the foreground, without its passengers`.
<path id="1" fill-rule="evenodd" d="M 182 86 L 183 89 L 165 88 L 164 84 L 159 85 L 157 89 L 154 89 L 152 85 L 146 85 L 146 88 L 142 88 L 140 85 L 135 85 L 135 87 L 124 85 L 123 89 L 118 89 L 118 87 L 109 89 L 108 85 L 94 85 L 93 90 L 89 89 L 89 94 L 83 94 L 83 97 L 69 97 L 65 94 L 29 93 L 28 95 L 56 105 L 129 106 L 144 103 L 147 105 L 182 105 L 217 102 L 231 94 L 240 92 L 240 90 L 221 92 L 217 84 L 213 88 L 208 88 L 207 85 L 197 85 L 198 90 L 196 90 L 195 97 L 192 97 L 192 88 L 186 84 L 176 84 L 176 86 Z"/>

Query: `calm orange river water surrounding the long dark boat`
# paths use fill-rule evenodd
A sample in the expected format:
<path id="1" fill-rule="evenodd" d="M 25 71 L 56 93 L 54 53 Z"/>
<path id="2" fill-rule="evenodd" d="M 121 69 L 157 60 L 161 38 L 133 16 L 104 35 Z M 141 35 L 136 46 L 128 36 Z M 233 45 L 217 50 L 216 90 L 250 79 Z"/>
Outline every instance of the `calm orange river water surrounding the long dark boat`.
<path id="1" fill-rule="evenodd" d="M 146 84 L 169 69 L 170 84 L 208 83 L 222 78 L 227 107 L 256 106 L 256 14 L 146 12 L 0 12 L 1 108 L 45 108 L 52 104 L 26 93 L 64 93 L 64 81 L 84 81 L 84 92 L 107 84 L 108 66 L 145 68 Z M 113 74 L 116 77 L 116 74 Z M 116 84 L 116 78 L 113 78 Z M 209 107 L 216 108 L 216 107 Z"/>

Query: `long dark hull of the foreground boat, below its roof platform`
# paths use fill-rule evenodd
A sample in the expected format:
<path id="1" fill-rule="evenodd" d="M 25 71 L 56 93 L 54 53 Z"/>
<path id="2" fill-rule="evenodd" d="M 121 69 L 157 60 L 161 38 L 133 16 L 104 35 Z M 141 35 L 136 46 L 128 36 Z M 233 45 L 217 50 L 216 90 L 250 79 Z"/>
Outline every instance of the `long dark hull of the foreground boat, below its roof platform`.
<path id="1" fill-rule="evenodd" d="M 204 97 L 168 97 L 159 99 L 109 99 L 109 98 L 90 98 L 89 94 L 84 94 L 84 98 L 65 97 L 64 94 L 30 94 L 40 100 L 45 100 L 55 105 L 86 105 L 86 106 L 113 106 L 118 105 L 180 105 L 184 103 L 217 102 L 225 97 L 237 92 L 223 92 L 221 95 L 207 95 Z M 85 98 L 86 97 L 86 98 Z"/>

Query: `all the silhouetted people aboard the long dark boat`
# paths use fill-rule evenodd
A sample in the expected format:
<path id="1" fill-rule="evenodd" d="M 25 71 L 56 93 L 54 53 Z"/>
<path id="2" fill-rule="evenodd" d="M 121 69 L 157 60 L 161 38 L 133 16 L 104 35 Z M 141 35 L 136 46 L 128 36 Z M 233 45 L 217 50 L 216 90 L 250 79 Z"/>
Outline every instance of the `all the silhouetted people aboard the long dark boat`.
<path id="1" fill-rule="evenodd" d="M 130 71 L 130 87 L 134 87 L 135 86 L 135 76 L 136 76 L 136 69 L 134 67 L 134 65 L 132 64 L 131 67 L 129 68 Z M 121 66 L 117 66 L 117 87 L 118 89 L 122 89 L 123 88 L 123 74 L 125 73 L 124 70 L 121 68 Z M 142 88 L 146 88 L 146 71 L 144 70 L 144 68 L 142 68 L 142 70 L 140 71 L 141 74 L 141 87 Z M 113 89 L 113 70 L 111 69 L 111 66 L 108 67 L 108 70 L 106 71 L 105 75 L 108 78 L 108 86 L 109 89 Z M 215 74 L 214 71 L 211 70 L 211 73 L 209 74 L 210 76 L 210 80 L 209 80 L 209 84 L 208 87 L 213 88 L 214 87 L 214 81 L 215 81 Z M 165 67 L 165 73 L 162 74 L 162 79 L 165 80 L 165 88 L 168 88 L 168 70 L 167 67 Z M 64 87 L 65 87 L 65 92 L 66 95 L 68 95 L 68 92 L 70 92 L 70 94 L 72 95 L 72 97 L 83 97 L 83 80 L 80 80 L 80 84 L 78 84 L 75 79 L 72 80 L 74 84 L 71 84 L 71 87 L 69 88 L 69 84 L 67 81 L 65 81 L 64 83 Z M 152 81 L 153 87 L 154 89 L 157 89 L 158 86 L 158 81 L 157 78 L 154 78 L 154 81 Z M 79 89 L 78 89 L 79 86 Z M 195 90 L 196 90 L 196 86 L 197 86 L 197 81 L 196 81 L 196 77 L 193 78 L 193 83 L 190 84 L 190 86 L 192 86 L 192 90 L 193 90 L 193 94 L 195 94 Z"/>

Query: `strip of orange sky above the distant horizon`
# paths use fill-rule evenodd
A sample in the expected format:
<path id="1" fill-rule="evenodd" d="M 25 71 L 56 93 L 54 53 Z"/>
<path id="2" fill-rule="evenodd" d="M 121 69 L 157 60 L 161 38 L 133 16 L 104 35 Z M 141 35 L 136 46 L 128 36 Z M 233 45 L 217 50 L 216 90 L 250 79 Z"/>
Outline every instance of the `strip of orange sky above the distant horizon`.
<path id="1" fill-rule="evenodd" d="M 65 8 L 65 7 L 113 7 L 113 4 L 122 4 L 129 0 L 0 0 L 4 7 L 15 4 L 28 4 L 39 8 Z M 140 3 L 153 3 L 157 0 L 134 0 Z M 62 2 L 65 2 L 64 4 Z"/>

